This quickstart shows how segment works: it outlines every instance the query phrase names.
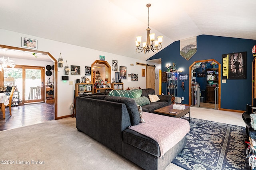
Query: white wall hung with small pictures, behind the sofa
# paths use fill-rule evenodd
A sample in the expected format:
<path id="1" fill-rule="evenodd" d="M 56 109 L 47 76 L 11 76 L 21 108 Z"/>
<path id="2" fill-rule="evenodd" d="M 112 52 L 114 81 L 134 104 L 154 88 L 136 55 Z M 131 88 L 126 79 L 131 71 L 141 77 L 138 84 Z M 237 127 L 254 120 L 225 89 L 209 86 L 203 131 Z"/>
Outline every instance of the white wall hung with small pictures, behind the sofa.
<path id="1" fill-rule="evenodd" d="M 112 60 L 118 61 L 118 68 L 119 66 L 126 66 L 127 73 L 135 73 L 138 74 L 138 81 L 127 82 L 127 80 L 122 80 L 124 83 L 124 89 L 128 87 L 138 87 L 146 88 L 146 76 L 141 76 L 142 68 L 146 69 L 145 66 L 136 65 L 138 63 L 148 63 L 152 65 L 156 65 L 156 72 L 160 68 L 160 64 L 151 63 L 147 61 L 137 60 L 121 55 L 115 55 L 112 53 L 106 53 L 103 51 L 98 51 L 94 49 L 88 49 L 76 45 L 70 45 L 67 43 L 61 43 L 58 41 L 52 41 L 49 39 L 43 39 L 40 37 L 34 37 L 32 35 L 26 35 L 22 33 L 17 33 L 13 31 L 7 31 L 4 29 L 0 29 L 0 44 L 1 45 L 8 45 L 13 47 L 21 47 L 21 37 L 28 37 L 31 39 L 38 40 L 38 51 L 45 51 L 49 52 L 57 61 L 59 55 L 61 53 L 63 61 L 66 63 L 68 62 L 68 66 L 70 65 L 80 65 L 81 75 L 69 75 L 69 80 L 73 81 L 73 85 L 69 85 L 69 82 L 62 82 L 60 80 L 61 76 L 64 76 L 64 66 L 62 68 L 58 68 L 58 117 L 71 115 L 72 111 L 70 110 L 70 104 L 74 100 L 74 90 L 76 83 L 76 79 L 81 77 L 85 74 L 85 66 L 91 66 L 95 60 L 99 60 L 99 56 L 105 56 L 105 61 L 107 61 L 112 66 Z M 86 40 L 85 40 L 86 41 Z M 135 50 L 135 49 L 131 49 Z M 20 63 L 16 63 L 20 64 Z M 33 63 L 31 63 L 33 64 Z M 131 66 L 133 64 L 134 66 Z M 28 63 L 26 63 L 28 65 Z M 57 70 L 57 69 L 54 69 Z M 114 77 L 114 72 L 111 72 L 111 78 Z M 158 73 L 159 75 L 159 73 Z M 47 77 L 47 76 L 46 76 Z M 87 76 L 90 78 L 90 76 Z M 158 80 L 156 80 L 156 94 L 158 94 Z"/>

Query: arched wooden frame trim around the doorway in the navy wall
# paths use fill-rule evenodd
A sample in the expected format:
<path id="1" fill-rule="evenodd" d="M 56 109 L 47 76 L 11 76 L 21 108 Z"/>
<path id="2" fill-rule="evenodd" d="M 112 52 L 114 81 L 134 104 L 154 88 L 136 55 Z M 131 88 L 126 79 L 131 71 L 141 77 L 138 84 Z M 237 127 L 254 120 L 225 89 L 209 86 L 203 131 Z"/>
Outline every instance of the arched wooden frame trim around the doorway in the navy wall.
<path id="1" fill-rule="evenodd" d="M 194 63 L 192 63 L 190 65 L 190 67 L 189 67 L 189 72 L 190 72 L 190 78 L 189 78 L 189 85 L 190 85 L 190 88 L 189 88 L 189 105 L 190 106 L 193 106 L 193 102 L 194 102 L 194 101 L 192 101 L 192 100 L 194 100 L 194 98 L 193 98 L 194 97 L 193 96 L 194 92 L 192 94 L 192 86 L 194 85 L 194 84 L 192 84 L 192 78 L 195 76 L 195 75 L 193 75 L 195 73 L 192 72 L 192 71 L 194 70 L 194 68 L 199 66 L 201 63 L 212 63 L 212 62 L 215 62 L 218 65 L 218 69 L 216 69 L 216 70 L 218 70 L 218 84 L 217 85 L 215 84 L 216 88 L 218 88 L 218 95 L 217 95 L 217 99 L 216 99 L 217 102 L 218 102 L 218 106 L 217 106 L 216 109 L 220 109 L 220 103 L 221 103 L 221 101 L 220 101 L 221 100 L 220 99 L 220 92 L 221 92 L 221 77 L 220 77 L 221 76 L 221 64 L 218 61 L 214 60 L 214 59 L 195 61 Z M 205 92 L 205 96 L 207 96 L 208 91 L 205 90 L 204 92 Z M 199 95 L 197 96 L 197 98 L 199 98 Z M 199 100 L 200 100 L 200 98 L 199 98 Z M 200 105 L 197 105 L 197 106 L 200 107 Z"/>

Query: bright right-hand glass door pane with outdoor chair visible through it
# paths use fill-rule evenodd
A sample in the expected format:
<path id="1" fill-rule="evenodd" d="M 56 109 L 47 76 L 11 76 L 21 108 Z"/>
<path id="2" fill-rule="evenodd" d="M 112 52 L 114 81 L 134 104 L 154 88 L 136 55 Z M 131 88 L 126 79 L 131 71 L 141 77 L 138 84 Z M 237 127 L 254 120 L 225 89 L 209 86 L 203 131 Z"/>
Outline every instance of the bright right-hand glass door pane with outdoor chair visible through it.
<path id="1" fill-rule="evenodd" d="M 43 101 L 41 68 L 25 68 L 25 102 Z"/>

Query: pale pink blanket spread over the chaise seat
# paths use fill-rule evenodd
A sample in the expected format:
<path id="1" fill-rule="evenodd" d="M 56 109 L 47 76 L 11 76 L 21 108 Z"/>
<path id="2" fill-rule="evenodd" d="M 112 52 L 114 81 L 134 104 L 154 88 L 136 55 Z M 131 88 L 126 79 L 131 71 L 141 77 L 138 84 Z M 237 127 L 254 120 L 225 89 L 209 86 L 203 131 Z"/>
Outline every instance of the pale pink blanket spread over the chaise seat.
<path id="1" fill-rule="evenodd" d="M 130 126 L 142 135 L 154 139 L 160 147 L 160 157 L 174 147 L 190 131 L 187 120 L 143 112 L 145 123 Z"/>

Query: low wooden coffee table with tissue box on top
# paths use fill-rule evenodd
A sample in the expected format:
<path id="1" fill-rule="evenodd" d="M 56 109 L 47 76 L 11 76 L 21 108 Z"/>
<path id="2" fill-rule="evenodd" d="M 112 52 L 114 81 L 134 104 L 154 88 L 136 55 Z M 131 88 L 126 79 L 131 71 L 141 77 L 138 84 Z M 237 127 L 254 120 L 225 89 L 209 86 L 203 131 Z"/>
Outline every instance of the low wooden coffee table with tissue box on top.
<path id="1" fill-rule="evenodd" d="M 171 105 L 162 107 L 160 109 L 156 109 L 154 112 L 160 115 L 177 117 L 177 118 L 181 118 L 184 115 L 189 113 L 189 123 L 190 123 L 190 106 L 185 106 L 184 110 L 178 110 L 178 109 L 173 109 L 171 104 Z M 174 112 L 174 113 L 170 113 L 170 112 Z"/>

